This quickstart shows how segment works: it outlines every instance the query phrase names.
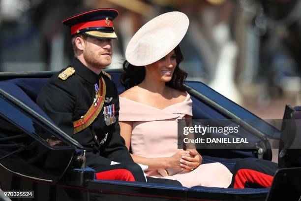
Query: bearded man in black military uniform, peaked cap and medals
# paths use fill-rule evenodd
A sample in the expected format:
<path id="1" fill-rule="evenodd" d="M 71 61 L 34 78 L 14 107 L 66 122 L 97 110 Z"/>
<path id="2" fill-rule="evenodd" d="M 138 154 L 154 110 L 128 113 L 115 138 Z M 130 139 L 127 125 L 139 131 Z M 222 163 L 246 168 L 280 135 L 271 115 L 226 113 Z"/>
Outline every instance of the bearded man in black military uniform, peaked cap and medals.
<path id="1" fill-rule="evenodd" d="M 97 179 L 146 181 L 142 167 L 134 163 L 118 123 L 119 96 L 109 74 L 112 39 L 117 39 L 115 9 L 101 8 L 62 21 L 71 29 L 75 58 L 72 65 L 53 75 L 37 97 L 37 104 L 57 126 L 81 143 L 86 165 Z M 181 185 L 148 177 L 149 182 Z"/>

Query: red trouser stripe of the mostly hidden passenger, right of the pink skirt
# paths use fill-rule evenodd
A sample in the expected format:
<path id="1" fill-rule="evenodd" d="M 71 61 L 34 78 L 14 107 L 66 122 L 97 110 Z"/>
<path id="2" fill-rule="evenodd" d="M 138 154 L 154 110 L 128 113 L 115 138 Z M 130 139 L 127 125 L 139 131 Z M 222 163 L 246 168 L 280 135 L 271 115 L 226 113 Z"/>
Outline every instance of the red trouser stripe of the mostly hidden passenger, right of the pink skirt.
<path id="1" fill-rule="evenodd" d="M 256 183 L 264 188 L 271 187 L 273 176 L 253 169 L 240 169 L 235 175 L 234 188 L 244 188 L 246 182 Z"/>

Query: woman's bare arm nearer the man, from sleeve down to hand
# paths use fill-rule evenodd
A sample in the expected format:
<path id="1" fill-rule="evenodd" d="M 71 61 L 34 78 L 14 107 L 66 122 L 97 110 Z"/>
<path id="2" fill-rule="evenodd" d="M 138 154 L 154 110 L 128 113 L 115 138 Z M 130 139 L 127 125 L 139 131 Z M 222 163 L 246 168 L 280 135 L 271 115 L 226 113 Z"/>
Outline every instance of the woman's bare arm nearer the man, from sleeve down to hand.
<path id="1" fill-rule="evenodd" d="M 120 124 L 120 135 L 124 138 L 125 146 L 129 150 L 132 130 L 133 130 L 133 122 L 120 121 L 119 124 Z M 147 157 L 137 156 L 135 154 L 131 154 L 131 156 L 135 163 L 149 166 L 147 170 L 167 168 L 167 167 L 181 169 L 183 168 L 180 166 L 181 157 L 187 155 L 188 152 L 189 151 L 180 150 L 171 157 L 162 157 L 162 158 L 147 158 Z"/>

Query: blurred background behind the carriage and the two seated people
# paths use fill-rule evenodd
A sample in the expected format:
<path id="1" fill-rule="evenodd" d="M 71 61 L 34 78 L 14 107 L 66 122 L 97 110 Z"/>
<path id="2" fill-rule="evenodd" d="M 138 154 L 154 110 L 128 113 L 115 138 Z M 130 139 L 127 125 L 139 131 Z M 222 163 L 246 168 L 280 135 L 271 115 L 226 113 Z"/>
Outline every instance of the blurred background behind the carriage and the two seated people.
<path id="1" fill-rule="evenodd" d="M 301 0 L 0 0 L 0 71 L 60 70 L 73 57 L 63 18 L 87 9 L 120 11 L 108 68 L 120 68 L 132 35 L 151 18 L 190 20 L 181 68 L 263 119 L 301 105 Z"/>

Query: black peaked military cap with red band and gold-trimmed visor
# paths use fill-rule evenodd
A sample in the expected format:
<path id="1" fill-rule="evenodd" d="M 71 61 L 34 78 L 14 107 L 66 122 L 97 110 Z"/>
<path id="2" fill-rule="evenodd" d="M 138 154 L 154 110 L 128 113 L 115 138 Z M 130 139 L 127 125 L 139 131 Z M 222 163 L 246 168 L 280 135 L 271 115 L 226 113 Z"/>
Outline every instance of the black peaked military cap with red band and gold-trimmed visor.
<path id="1" fill-rule="evenodd" d="M 113 20 L 119 15 L 112 8 L 98 8 L 65 18 L 61 23 L 71 29 L 71 35 L 82 33 L 97 38 L 117 39 Z"/>

